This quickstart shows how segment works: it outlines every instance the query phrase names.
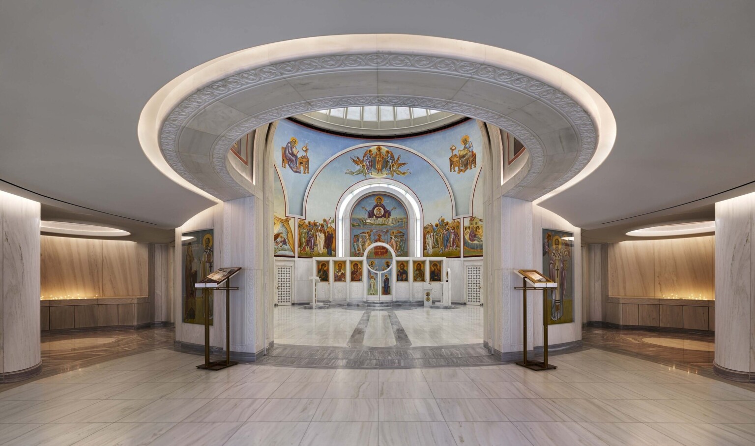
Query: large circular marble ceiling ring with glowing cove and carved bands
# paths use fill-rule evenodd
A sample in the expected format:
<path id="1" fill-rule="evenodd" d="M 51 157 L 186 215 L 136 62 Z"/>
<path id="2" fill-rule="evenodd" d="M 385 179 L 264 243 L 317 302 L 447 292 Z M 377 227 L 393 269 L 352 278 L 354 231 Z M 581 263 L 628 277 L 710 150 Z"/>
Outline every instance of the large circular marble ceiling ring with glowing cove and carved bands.
<path id="1" fill-rule="evenodd" d="M 540 60 L 451 39 L 355 35 L 263 45 L 196 67 L 149 101 L 140 142 L 174 181 L 233 200 L 250 195 L 226 165 L 243 135 L 288 116 L 364 106 L 439 110 L 510 132 L 532 163 L 507 195 L 526 200 L 594 169 L 615 135 L 605 101 Z"/>

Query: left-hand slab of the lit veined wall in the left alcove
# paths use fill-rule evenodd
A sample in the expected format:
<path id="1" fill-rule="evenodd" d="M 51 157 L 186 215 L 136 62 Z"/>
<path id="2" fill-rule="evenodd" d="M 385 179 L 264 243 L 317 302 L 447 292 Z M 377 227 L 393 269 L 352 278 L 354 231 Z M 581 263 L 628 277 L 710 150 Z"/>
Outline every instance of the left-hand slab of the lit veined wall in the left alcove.
<path id="1" fill-rule="evenodd" d="M 42 296 L 103 296 L 103 240 L 43 235 Z"/>

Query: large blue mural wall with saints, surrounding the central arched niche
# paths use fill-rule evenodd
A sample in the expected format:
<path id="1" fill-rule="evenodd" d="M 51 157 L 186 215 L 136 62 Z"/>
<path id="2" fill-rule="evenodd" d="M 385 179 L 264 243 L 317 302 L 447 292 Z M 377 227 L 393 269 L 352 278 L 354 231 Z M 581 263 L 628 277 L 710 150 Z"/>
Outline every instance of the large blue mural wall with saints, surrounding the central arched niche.
<path id="1" fill-rule="evenodd" d="M 474 120 L 426 135 L 375 142 L 282 119 L 273 144 L 281 148 L 280 158 L 274 160 L 279 175 L 274 181 L 276 256 L 336 256 L 341 243 L 344 254 L 363 256 L 374 242 L 387 243 L 397 256 L 414 255 L 410 246 L 421 248 L 422 256 L 482 256 L 482 220 L 478 218 L 469 232 L 470 216 L 482 215 L 482 202 L 474 209 L 484 161 L 476 147 L 482 144 L 482 134 Z M 420 234 L 408 231 L 407 209 L 389 194 L 360 199 L 352 215 L 339 213 L 345 191 L 375 179 L 398 182 L 416 197 L 421 240 L 414 240 Z M 337 215 L 344 221 L 336 221 Z M 344 234 L 337 228 L 344 228 Z M 414 273 L 408 265 L 407 270 Z M 365 274 L 363 280 L 368 279 Z M 377 283 L 378 289 L 381 285 Z"/>

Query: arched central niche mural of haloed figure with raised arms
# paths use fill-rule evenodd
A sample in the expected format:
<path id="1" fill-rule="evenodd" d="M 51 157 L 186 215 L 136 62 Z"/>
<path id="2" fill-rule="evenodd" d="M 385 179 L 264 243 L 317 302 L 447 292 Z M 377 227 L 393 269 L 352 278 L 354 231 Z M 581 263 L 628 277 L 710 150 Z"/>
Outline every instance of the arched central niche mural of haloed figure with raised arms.
<path id="1" fill-rule="evenodd" d="M 386 243 L 396 256 L 408 256 L 408 215 L 388 194 L 362 197 L 351 212 L 351 256 L 364 256 L 372 243 Z"/>

